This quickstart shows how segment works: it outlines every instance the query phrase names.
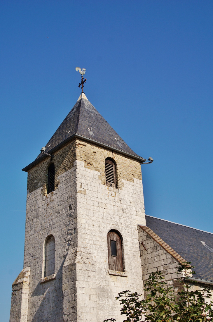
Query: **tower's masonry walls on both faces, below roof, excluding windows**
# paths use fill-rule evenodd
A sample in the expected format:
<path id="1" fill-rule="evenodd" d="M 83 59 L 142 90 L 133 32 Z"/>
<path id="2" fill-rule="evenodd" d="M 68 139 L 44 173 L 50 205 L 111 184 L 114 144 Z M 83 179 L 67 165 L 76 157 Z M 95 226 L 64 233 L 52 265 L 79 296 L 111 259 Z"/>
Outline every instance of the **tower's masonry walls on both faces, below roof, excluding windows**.
<path id="1" fill-rule="evenodd" d="M 75 144 L 76 143 L 76 144 Z M 105 158 L 117 188 L 105 185 Z M 75 158 L 77 160 L 75 161 Z M 47 195 L 55 164 L 56 189 Z M 28 322 L 103 321 L 116 317 L 124 289 L 143 293 L 137 225 L 145 225 L 139 162 L 74 140 L 28 173 L 24 268 L 30 267 Z M 107 233 L 122 236 L 125 272 L 108 271 Z M 55 274 L 43 278 L 43 249 L 55 238 Z M 117 274 L 117 275 L 116 275 Z"/>

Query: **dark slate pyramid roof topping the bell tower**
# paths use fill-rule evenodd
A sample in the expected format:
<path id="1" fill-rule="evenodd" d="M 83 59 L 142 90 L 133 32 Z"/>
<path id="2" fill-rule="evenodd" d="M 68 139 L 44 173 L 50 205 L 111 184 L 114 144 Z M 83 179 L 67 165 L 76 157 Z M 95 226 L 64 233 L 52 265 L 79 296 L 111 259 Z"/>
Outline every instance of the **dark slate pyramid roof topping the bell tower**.
<path id="1" fill-rule="evenodd" d="M 88 101 L 84 93 L 80 95 L 72 110 L 50 138 L 46 145 L 45 152 L 52 154 L 59 147 L 74 137 L 82 138 L 95 144 L 110 148 L 111 150 L 131 156 L 140 161 L 146 161 L 130 149 L 118 133 L 115 132 L 109 123 Z M 40 153 L 35 161 L 22 170 L 29 170 L 45 157 L 47 157 L 47 155 Z"/>

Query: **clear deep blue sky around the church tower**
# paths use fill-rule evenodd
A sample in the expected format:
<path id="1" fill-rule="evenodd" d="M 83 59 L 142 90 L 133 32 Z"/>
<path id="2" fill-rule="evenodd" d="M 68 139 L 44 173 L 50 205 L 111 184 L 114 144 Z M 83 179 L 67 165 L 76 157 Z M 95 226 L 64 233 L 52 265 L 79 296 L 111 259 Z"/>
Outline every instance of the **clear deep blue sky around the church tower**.
<path id="1" fill-rule="evenodd" d="M 1 321 L 23 267 L 27 174 L 85 94 L 142 166 L 146 214 L 213 232 L 212 1 L 1 1 Z"/>

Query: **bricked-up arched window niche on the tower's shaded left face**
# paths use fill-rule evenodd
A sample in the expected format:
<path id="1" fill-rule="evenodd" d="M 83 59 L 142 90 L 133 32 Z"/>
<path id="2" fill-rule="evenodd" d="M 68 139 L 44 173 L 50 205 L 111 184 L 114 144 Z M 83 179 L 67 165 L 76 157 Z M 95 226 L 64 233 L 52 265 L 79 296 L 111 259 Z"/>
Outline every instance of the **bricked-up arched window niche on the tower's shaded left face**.
<path id="1" fill-rule="evenodd" d="M 55 238 L 53 235 L 47 237 L 44 247 L 44 277 L 46 277 L 55 273 Z"/>

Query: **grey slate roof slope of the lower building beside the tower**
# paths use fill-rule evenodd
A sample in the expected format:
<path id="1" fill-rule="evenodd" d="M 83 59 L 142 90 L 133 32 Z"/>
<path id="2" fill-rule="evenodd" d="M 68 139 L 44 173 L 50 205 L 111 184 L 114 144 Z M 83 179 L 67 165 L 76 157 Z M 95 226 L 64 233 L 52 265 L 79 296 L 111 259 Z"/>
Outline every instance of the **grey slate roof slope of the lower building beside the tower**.
<path id="1" fill-rule="evenodd" d="M 199 229 L 146 216 L 146 226 L 187 261 L 198 279 L 213 281 L 213 234 Z M 206 246 L 202 242 L 206 243 Z M 209 248 L 208 248 L 209 247 Z M 211 251 L 212 249 L 212 251 Z"/>

